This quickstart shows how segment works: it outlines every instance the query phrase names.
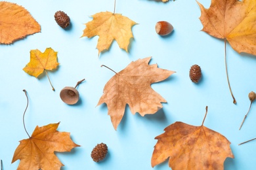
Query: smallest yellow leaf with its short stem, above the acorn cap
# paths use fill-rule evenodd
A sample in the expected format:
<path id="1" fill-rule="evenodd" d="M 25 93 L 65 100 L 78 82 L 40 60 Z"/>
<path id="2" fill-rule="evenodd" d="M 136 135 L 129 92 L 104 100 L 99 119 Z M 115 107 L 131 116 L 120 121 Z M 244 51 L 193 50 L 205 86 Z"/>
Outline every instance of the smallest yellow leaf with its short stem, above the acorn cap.
<path id="1" fill-rule="evenodd" d="M 31 76 L 36 78 L 45 71 L 48 79 L 47 70 L 53 70 L 58 67 L 57 62 L 57 52 L 54 52 L 52 48 L 46 48 L 45 52 L 40 52 L 39 50 L 30 50 L 30 62 L 24 67 L 24 71 Z M 51 84 L 51 80 L 49 79 Z M 52 88 L 53 85 L 51 84 Z M 54 88 L 53 88 L 54 90 Z"/>

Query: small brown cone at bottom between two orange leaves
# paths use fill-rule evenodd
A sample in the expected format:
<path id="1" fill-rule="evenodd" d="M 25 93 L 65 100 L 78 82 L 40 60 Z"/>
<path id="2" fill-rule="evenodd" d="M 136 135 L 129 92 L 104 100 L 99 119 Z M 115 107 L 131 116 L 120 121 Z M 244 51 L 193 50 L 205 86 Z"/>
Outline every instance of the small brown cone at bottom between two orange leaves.
<path id="1" fill-rule="evenodd" d="M 91 152 L 91 158 L 94 161 L 101 161 L 105 158 L 106 154 L 108 153 L 108 146 L 104 143 L 97 144 L 93 151 Z"/>

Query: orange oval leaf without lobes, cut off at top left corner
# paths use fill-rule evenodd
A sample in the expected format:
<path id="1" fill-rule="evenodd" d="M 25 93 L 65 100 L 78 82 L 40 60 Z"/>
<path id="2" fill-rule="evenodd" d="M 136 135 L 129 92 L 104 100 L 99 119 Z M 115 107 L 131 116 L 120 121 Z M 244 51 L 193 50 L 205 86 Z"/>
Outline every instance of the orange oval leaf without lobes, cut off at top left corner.
<path id="1" fill-rule="evenodd" d="M 9 2 L 0 2 L 0 43 L 12 42 L 41 31 L 28 10 Z"/>

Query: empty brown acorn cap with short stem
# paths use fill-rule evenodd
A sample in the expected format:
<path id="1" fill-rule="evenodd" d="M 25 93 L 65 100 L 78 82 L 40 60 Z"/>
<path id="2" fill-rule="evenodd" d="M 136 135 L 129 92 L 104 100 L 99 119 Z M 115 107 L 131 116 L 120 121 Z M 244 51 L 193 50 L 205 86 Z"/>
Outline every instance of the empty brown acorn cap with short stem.
<path id="1" fill-rule="evenodd" d="M 85 80 L 85 78 L 83 78 L 83 80 Z M 63 88 L 60 91 L 60 99 L 62 99 L 62 101 L 68 105 L 74 105 L 77 103 L 77 101 L 79 101 L 79 92 L 75 88 L 77 88 L 77 86 L 83 82 L 83 80 L 77 82 L 74 88 L 70 86 Z"/>

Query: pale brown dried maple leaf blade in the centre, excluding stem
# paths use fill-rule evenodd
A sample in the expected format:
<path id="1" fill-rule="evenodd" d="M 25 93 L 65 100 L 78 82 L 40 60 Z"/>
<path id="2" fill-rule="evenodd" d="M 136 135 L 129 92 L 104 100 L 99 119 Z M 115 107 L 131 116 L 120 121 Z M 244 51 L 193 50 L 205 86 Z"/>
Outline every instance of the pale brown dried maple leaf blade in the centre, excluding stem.
<path id="1" fill-rule="evenodd" d="M 139 112 L 144 116 L 156 113 L 163 107 L 161 103 L 166 102 L 150 85 L 165 80 L 175 72 L 160 69 L 157 64 L 148 65 L 150 59 L 131 62 L 106 83 L 98 105 L 106 103 L 115 129 L 123 118 L 126 104 L 133 114 Z"/>

